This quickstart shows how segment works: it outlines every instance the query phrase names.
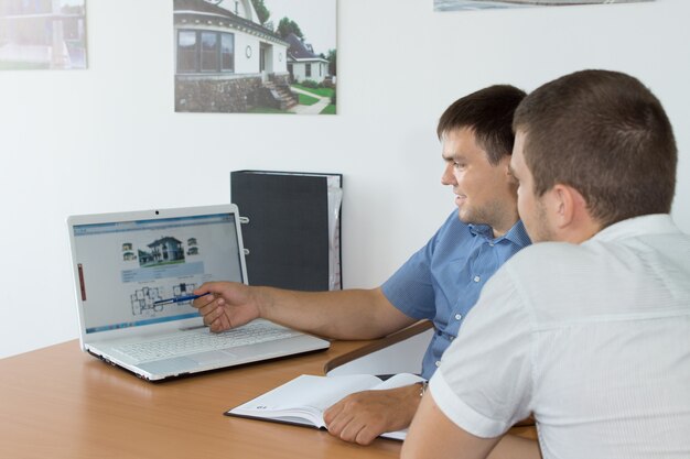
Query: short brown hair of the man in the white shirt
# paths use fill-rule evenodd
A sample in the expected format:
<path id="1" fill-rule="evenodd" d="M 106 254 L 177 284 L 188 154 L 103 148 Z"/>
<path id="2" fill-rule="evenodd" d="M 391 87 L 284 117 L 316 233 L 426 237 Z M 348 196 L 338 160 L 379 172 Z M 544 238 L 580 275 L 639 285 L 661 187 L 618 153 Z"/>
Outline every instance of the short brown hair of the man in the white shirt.
<path id="1" fill-rule="evenodd" d="M 547 83 L 515 113 L 535 194 L 556 184 L 578 189 L 603 228 L 668 214 L 678 152 L 659 100 L 636 78 L 582 70 Z"/>

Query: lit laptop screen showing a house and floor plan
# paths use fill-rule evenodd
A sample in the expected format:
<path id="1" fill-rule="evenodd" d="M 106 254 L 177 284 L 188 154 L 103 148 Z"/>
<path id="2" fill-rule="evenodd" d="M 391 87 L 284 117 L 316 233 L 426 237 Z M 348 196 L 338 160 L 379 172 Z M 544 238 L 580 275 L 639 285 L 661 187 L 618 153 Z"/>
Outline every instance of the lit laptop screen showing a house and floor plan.
<path id="1" fill-rule="evenodd" d="M 193 291 L 244 282 L 234 214 L 75 225 L 86 334 L 198 317 Z"/>

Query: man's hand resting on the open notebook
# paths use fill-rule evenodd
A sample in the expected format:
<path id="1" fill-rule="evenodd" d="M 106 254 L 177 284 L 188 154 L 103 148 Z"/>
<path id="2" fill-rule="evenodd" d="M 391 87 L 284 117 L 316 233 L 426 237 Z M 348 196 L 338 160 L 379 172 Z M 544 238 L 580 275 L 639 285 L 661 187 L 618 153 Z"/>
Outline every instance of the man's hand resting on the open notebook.
<path id="1" fill-rule="evenodd" d="M 364 391 L 331 406 L 323 417 L 331 435 L 345 441 L 369 445 L 386 431 L 409 427 L 419 402 L 418 384 Z"/>

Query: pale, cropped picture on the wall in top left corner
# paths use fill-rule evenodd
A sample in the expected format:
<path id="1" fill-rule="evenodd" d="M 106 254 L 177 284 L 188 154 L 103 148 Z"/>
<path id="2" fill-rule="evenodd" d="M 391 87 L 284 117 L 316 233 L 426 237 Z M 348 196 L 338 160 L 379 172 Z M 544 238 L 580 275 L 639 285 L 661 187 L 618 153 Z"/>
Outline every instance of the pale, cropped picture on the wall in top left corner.
<path id="1" fill-rule="evenodd" d="M 0 0 L 0 70 L 86 68 L 86 0 Z"/>

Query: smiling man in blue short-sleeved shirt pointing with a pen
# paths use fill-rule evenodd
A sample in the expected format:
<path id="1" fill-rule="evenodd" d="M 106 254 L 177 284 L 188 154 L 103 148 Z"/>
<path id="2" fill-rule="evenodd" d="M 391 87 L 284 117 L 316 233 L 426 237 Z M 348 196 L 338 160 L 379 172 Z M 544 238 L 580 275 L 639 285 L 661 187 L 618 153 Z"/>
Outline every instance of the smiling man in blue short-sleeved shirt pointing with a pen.
<path id="1" fill-rule="evenodd" d="M 529 244 L 509 172 L 513 113 L 524 97 L 513 86 L 490 86 L 456 100 L 441 116 L 441 183 L 452 187 L 457 209 L 382 286 L 313 293 L 207 283 L 194 292 L 212 294 L 194 302 L 204 323 L 222 331 L 263 317 L 335 339 L 373 339 L 430 319 L 435 334 L 422 376 L 431 378 L 482 286 Z M 419 394 L 417 384 L 360 392 L 328 408 L 324 419 L 332 435 L 368 445 L 385 431 L 408 427 Z"/>

